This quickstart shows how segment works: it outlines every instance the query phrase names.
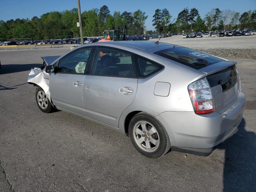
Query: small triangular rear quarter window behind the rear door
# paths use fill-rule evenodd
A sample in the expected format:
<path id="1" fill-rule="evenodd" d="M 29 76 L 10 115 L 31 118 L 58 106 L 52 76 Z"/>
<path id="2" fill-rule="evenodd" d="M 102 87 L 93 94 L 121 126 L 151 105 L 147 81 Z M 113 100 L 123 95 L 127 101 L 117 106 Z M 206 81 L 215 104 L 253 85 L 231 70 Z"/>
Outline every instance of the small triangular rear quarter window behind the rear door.
<path id="1" fill-rule="evenodd" d="M 134 60 L 138 77 L 149 76 L 163 68 L 162 65 L 138 55 L 134 55 Z"/>

